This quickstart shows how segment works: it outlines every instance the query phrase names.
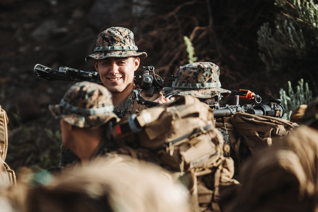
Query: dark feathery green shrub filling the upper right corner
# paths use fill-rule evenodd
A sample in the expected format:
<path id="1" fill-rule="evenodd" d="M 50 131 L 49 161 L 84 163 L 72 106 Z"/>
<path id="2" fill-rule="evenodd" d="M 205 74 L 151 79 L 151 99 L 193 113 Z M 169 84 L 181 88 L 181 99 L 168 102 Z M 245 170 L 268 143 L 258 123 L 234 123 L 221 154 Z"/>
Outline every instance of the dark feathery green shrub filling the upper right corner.
<path id="1" fill-rule="evenodd" d="M 276 0 L 273 23 L 258 30 L 259 56 L 268 73 L 317 71 L 318 4 L 313 0 Z"/>

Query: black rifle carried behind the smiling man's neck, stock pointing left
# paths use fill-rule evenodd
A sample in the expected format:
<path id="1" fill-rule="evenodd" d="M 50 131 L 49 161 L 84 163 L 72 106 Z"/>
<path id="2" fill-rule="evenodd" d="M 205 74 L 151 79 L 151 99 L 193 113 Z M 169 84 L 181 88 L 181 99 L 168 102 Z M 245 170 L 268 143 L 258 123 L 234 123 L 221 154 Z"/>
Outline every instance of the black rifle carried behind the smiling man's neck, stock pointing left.
<path id="1" fill-rule="evenodd" d="M 155 89 L 171 87 L 175 76 L 165 77 L 164 80 L 155 74 L 154 66 L 142 66 L 143 73 L 134 77 L 135 84 L 147 89 L 147 96 L 152 96 Z M 66 66 L 60 66 L 59 70 L 46 67 L 41 64 L 34 66 L 35 75 L 51 81 L 90 81 L 103 84 L 98 72 L 82 71 Z"/>

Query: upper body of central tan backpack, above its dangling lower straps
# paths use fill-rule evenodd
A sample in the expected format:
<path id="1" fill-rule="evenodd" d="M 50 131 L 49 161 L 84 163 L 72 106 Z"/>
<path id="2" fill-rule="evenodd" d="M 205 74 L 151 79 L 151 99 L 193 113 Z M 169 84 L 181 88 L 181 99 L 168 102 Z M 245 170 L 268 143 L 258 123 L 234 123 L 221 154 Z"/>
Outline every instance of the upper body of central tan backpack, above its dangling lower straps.
<path id="1" fill-rule="evenodd" d="M 222 135 L 213 120 L 207 104 L 185 96 L 122 119 L 112 135 L 135 148 L 156 152 L 162 164 L 183 171 L 223 154 Z"/>

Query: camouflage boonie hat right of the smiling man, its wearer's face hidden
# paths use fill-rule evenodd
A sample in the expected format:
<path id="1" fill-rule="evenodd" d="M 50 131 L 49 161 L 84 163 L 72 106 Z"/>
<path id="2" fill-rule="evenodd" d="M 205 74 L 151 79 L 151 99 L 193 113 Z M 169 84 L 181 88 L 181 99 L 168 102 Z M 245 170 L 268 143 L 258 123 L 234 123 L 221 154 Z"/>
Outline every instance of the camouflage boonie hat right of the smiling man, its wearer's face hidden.
<path id="1" fill-rule="evenodd" d="M 165 95 L 190 95 L 197 98 L 213 98 L 219 93 L 225 97 L 231 91 L 221 88 L 220 68 L 211 62 L 196 62 L 180 66 L 172 87 L 164 87 Z"/>

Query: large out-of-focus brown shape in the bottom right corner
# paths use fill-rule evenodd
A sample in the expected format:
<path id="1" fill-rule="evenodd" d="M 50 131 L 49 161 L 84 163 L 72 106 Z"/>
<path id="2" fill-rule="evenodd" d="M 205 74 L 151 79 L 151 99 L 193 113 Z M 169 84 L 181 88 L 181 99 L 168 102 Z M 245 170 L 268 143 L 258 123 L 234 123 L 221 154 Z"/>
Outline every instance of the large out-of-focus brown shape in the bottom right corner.
<path id="1" fill-rule="evenodd" d="M 231 212 L 317 211 L 318 132 L 300 125 L 242 166 Z"/>

